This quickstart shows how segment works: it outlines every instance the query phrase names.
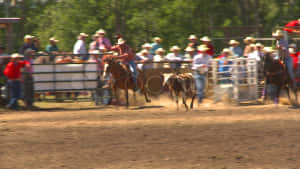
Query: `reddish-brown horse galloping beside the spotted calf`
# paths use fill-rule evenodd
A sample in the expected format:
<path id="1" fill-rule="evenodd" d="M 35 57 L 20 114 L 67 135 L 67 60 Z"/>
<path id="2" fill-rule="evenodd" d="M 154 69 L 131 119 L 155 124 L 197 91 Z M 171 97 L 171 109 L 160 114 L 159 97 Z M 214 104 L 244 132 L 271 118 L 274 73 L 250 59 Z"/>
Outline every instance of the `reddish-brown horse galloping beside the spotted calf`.
<path id="1" fill-rule="evenodd" d="M 129 106 L 128 90 L 129 89 L 133 90 L 135 96 L 134 89 L 136 89 L 136 84 L 132 78 L 132 73 L 129 69 L 129 66 L 122 63 L 114 56 L 110 56 L 110 55 L 105 56 L 105 58 L 103 58 L 103 61 L 107 64 L 104 70 L 105 73 L 106 74 L 111 73 L 112 75 L 111 87 L 116 96 L 117 102 L 119 103 L 118 89 L 123 89 L 125 91 L 126 106 L 128 107 Z M 146 102 L 151 102 L 151 100 L 148 98 L 144 79 L 145 79 L 144 74 L 142 72 L 139 72 L 137 77 L 138 88 L 141 90 L 141 93 L 144 94 Z"/>

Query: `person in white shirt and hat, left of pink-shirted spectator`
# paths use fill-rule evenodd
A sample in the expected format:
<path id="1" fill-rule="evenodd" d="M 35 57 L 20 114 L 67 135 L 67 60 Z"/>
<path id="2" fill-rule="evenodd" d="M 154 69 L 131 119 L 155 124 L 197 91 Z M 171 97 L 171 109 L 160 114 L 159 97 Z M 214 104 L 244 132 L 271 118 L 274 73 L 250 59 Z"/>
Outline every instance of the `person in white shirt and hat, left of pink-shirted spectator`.
<path id="1" fill-rule="evenodd" d="M 89 55 L 85 46 L 85 40 L 88 37 L 85 33 L 80 33 L 77 42 L 74 45 L 73 53 L 79 55 L 81 60 L 88 60 Z"/>

